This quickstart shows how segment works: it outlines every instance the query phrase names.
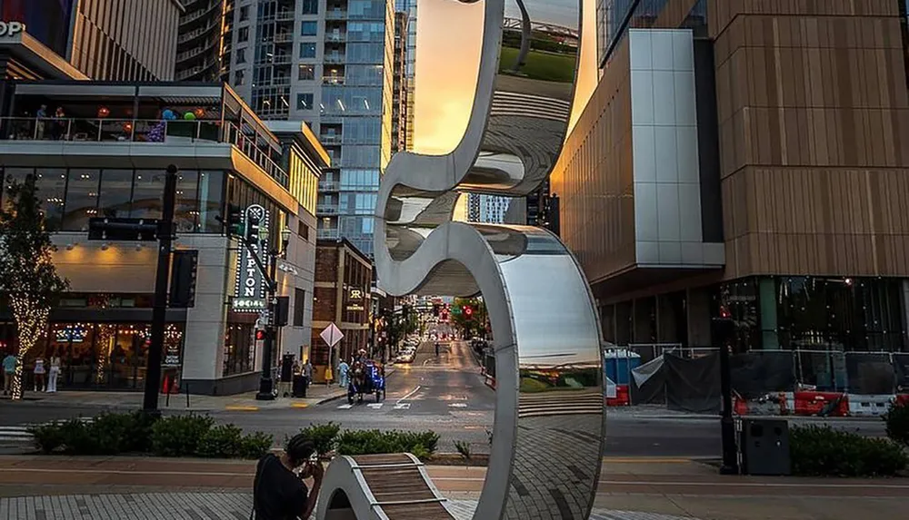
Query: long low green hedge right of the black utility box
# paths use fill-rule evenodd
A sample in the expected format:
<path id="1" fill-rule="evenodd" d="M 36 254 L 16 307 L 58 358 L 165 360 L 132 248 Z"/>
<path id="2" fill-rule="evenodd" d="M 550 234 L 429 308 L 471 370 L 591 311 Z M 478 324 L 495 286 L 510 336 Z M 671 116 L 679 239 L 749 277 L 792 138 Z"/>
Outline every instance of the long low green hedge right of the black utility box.
<path id="1" fill-rule="evenodd" d="M 798 476 L 894 476 L 909 463 L 893 441 L 831 427 L 792 427 L 789 442 Z"/>

